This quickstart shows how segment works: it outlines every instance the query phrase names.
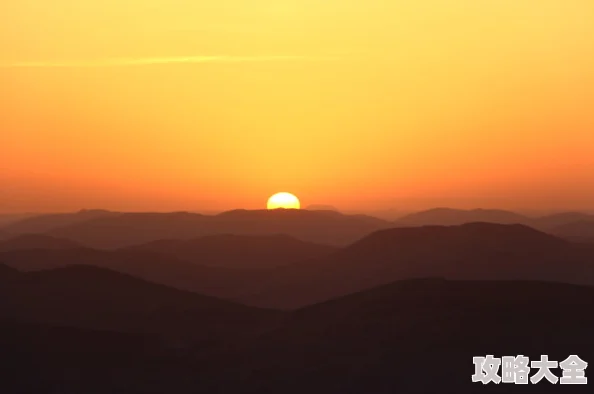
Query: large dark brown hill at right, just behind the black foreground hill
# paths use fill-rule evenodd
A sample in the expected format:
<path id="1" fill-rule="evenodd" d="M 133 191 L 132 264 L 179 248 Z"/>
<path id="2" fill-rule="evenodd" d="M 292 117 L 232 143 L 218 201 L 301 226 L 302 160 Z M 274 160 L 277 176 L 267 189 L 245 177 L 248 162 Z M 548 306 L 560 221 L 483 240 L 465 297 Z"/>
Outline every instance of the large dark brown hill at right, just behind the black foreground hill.
<path id="1" fill-rule="evenodd" d="M 594 284 L 594 248 L 523 225 L 470 223 L 381 230 L 266 276 L 250 305 L 296 308 L 397 280 L 550 280 Z"/>

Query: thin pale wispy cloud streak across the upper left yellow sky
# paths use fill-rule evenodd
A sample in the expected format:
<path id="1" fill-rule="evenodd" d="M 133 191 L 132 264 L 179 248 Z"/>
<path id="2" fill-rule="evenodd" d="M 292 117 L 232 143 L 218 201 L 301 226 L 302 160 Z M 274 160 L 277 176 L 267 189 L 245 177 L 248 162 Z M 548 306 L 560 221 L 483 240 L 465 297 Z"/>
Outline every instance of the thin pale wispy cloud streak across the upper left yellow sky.
<path id="1" fill-rule="evenodd" d="M 147 58 L 110 58 L 84 61 L 36 61 L 0 64 L 3 68 L 79 68 L 79 67 L 125 67 L 148 66 L 159 64 L 192 63 L 247 63 L 247 62 L 283 62 L 283 61 L 323 61 L 333 60 L 336 56 L 173 56 Z"/>

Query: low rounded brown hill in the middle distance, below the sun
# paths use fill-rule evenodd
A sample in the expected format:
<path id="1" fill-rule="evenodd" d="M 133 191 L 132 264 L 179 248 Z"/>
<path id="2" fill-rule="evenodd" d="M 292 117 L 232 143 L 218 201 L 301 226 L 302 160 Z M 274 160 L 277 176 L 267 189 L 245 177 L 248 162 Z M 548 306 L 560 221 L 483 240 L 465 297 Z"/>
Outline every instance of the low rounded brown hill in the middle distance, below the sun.
<path id="1" fill-rule="evenodd" d="M 262 269 L 330 254 L 336 248 L 287 235 L 209 235 L 192 240 L 160 240 L 127 248 L 163 253 L 200 265 Z"/>

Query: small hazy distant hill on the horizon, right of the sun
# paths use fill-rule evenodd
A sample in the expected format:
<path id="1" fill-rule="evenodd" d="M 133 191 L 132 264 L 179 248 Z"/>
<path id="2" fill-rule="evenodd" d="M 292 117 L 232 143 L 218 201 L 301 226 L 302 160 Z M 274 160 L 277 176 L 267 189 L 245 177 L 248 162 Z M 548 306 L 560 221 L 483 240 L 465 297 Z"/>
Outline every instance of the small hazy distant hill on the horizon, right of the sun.
<path id="1" fill-rule="evenodd" d="M 465 223 L 486 222 L 498 224 L 526 224 L 530 219 L 514 212 L 496 209 L 461 210 L 435 208 L 411 213 L 395 221 L 398 227 L 455 226 Z"/>

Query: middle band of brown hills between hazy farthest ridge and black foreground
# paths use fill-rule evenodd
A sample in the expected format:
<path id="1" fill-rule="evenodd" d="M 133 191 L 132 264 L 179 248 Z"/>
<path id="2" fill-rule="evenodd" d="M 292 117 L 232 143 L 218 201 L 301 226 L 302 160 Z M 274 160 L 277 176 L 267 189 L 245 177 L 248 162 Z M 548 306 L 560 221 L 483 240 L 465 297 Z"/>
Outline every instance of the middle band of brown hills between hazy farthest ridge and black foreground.
<path id="1" fill-rule="evenodd" d="M 594 285 L 594 246 L 524 225 L 392 228 L 342 248 L 281 235 L 206 236 L 118 250 L 42 239 L 29 235 L 0 242 L 0 261 L 27 271 L 92 265 L 267 308 L 298 308 L 427 276 Z M 23 246 L 27 240 L 30 248 Z"/>

